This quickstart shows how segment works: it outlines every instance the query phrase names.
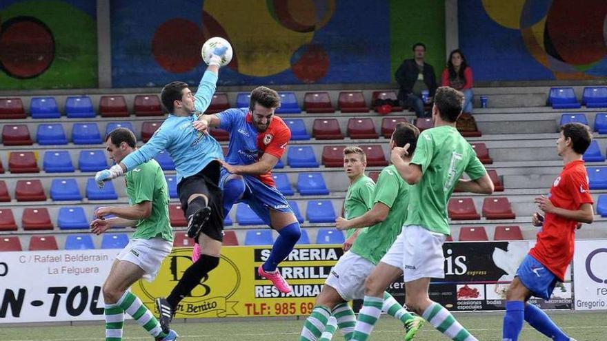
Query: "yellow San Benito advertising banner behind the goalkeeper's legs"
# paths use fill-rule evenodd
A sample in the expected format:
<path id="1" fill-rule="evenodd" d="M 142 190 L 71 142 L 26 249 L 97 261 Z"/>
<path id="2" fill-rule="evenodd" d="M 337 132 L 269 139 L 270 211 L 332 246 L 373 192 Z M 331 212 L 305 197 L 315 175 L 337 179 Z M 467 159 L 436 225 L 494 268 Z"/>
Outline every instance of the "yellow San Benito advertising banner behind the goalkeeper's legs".
<path id="1" fill-rule="evenodd" d="M 140 280 L 133 285 L 133 293 L 153 311 L 155 298 L 168 296 L 192 264 L 191 254 L 190 247 L 173 249 L 154 282 Z M 342 254 L 341 245 L 296 247 L 279 267 L 293 289 L 284 294 L 257 274 L 257 267 L 270 256 L 269 246 L 223 247 L 219 267 L 181 301 L 176 318 L 309 315 Z"/>

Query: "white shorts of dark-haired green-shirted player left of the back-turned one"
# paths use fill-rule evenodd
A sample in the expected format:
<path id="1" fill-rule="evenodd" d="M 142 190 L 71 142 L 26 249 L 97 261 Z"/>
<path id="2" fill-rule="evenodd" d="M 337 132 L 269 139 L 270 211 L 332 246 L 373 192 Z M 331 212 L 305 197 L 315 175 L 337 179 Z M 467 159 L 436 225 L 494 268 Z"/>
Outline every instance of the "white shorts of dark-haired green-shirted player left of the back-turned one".
<path id="1" fill-rule="evenodd" d="M 325 285 L 337 290 L 345 301 L 365 298 L 365 280 L 374 268 L 369 260 L 348 251 L 337 260 Z"/>

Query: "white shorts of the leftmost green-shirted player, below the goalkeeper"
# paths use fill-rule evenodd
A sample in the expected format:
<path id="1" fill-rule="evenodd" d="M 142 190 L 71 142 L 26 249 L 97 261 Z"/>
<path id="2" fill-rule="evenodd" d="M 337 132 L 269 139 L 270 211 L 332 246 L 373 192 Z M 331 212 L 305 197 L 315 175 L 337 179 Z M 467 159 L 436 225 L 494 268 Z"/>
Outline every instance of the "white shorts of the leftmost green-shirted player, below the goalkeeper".
<path id="1" fill-rule="evenodd" d="M 160 237 L 152 239 L 131 239 L 128 245 L 116 256 L 117 260 L 131 262 L 146 274 L 145 280 L 152 282 L 160 269 L 160 265 L 166 256 L 170 254 L 173 243 Z"/>

